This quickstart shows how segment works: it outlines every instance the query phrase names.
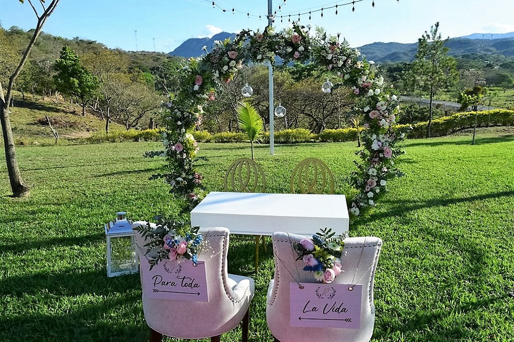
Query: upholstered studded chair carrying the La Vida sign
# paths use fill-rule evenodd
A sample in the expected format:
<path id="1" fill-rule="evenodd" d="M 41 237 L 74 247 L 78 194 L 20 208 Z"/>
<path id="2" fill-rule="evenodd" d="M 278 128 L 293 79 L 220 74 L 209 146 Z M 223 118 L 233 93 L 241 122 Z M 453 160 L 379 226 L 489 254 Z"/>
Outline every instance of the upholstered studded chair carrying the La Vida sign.
<path id="1" fill-rule="evenodd" d="M 276 341 L 369 341 L 375 324 L 373 283 L 382 240 L 376 237 L 344 239 L 346 255 L 341 258 L 341 264 L 345 272 L 339 274 L 333 282 L 350 284 L 358 281 L 362 284 L 360 328 L 303 328 L 291 327 L 289 318 L 289 283 L 316 282 L 311 272 L 303 271 L 305 263 L 302 260 L 296 261 L 294 244 L 303 238 L 305 236 L 283 232 L 274 233 L 271 237 L 275 274 L 268 288 L 266 320 Z"/>

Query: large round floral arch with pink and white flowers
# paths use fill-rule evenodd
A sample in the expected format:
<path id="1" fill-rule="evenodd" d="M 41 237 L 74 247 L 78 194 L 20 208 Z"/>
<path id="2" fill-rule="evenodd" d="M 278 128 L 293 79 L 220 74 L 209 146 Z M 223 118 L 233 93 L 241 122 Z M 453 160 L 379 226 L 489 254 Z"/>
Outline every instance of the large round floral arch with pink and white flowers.
<path id="1" fill-rule="evenodd" d="M 354 110 L 363 117 L 363 149 L 356 154 L 357 171 L 352 173 L 352 184 L 358 194 L 350 204 L 350 214 L 358 216 L 365 208 L 376 205 L 386 191 L 387 182 L 401 173 L 394 159 L 402 152 L 395 143 L 405 135 L 393 125 L 399 110 L 399 99 L 394 89 L 387 87 L 378 74 L 374 62 L 361 57 L 346 41 L 309 35 L 310 27 L 293 24 L 292 30 L 273 33 L 242 31 L 234 40 L 216 42 L 211 52 L 201 58 L 190 59 L 182 88 L 169 102 L 163 119 L 163 152 L 151 153 L 166 157 L 168 173 L 155 175 L 170 184 L 171 193 L 186 200 L 185 211 L 191 210 L 204 196 L 202 176 L 193 167 L 198 145 L 192 131 L 201 122 L 202 106 L 215 97 L 216 84 L 230 82 L 244 64 L 274 63 L 275 55 L 289 62 L 310 62 L 329 70 L 336 85 L 324 84 L 324 91 L 347 86 L 353 89 Z"/>

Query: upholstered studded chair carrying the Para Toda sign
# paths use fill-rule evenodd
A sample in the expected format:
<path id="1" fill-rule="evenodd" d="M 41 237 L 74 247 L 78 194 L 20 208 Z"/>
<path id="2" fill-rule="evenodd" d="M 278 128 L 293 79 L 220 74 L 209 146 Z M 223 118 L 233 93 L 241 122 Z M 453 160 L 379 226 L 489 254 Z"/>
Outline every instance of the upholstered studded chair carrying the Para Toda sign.
<path id="1" fill-rule="evenodd" d="M 146 224 L 133 223 L 133 227 Z M 229 230 L 225 227 L 200 229 L 207 242 L 198 260 L 205 260 L 209 301 L 163 300 L 142 296 L 146 324 L 151 329 L 151 342 L 161 341 L 162 335 L 179 338 L 206 338 L 219 341 L 221 334 L 242 322 L 243 341 L 248 340 L 250 301 L 254 294 L 252 278 L 227 273 Z M 136 234 L 139 258 L 146 258 L 146 243 Z M 185 261 L 190 262 L 190 261 Z M 148 269 L 140 267 L 141 283 Z"/>

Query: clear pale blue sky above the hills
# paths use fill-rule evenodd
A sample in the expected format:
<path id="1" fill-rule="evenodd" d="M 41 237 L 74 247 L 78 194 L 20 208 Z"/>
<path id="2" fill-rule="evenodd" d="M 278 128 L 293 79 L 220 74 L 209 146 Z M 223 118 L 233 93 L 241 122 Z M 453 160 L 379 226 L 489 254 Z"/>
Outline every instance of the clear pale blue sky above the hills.
<path id="1" fill-rule="evenodd" d="M 357 0 L 356 0 L 357 1 Z M 505 0 L 273 0 L 276 31 L 291 21 L 341 33 L 353 47 L 373 42 L 415 43 L 435 22 L 444 37 L 471 33 L 514 32 L 514 2 Z M 34 0 L 35 5 L 39 4 Z M 61 0 L 43 31 L 72 39 L 94 40 L 109 48 L 170 52 L 193 37 L 221 31 L 263 29 L 267 0 Z M 314 5 L 316 4 L 316 5 Z M 338 14 L 335 8 L 338 5 Z M 280 9 L 279 9 L 280 6 Z M 321 11 L 323 10 L 323 17 Z M 223 9 L 226 11 L 224 12 Z M 234 9 L 234 12 L 232 11 Z M 248 16 L 248 14 L 250 14 Z M 261 18 L 259 16 L 261 15 Z M 282 16 L 282 23 L 281 23 Z M 5 29 L 35 27 L 27 2 L 0 0 L 0 23 Z"/>

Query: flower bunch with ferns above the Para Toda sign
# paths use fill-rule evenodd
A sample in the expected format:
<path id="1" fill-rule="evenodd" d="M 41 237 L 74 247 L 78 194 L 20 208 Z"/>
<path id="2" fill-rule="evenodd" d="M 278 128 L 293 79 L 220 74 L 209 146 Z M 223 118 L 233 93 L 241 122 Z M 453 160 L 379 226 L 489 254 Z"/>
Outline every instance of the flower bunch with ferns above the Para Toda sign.
<path id="1" fill-rule="evenodd" d="M 190 227 L 180 221 L 166 221 L 162 217 L 155 217 L 158 221 L 155 228 L 139 225 L 135 231 L 140 233 L 145 241 L 145 255 L 150 263 L 150 270 L 163 259 L 191 260 L 193 265 L 198 263 L 198 253 L 201 249 L 203 237 L 198 233 L 199 227 Z"/>

